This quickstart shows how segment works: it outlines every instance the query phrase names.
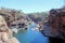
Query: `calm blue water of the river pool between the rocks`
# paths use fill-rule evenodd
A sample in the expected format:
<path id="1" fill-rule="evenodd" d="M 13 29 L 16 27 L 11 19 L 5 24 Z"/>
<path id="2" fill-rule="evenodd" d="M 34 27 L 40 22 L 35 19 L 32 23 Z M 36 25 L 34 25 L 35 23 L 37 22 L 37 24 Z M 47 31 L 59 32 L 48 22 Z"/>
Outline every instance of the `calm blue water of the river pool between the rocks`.
<path id="1" fill-rule="evenodd" d="M 49 39 L 39 31 L 31 30 L 36 24 L 31 24 L 26 32 L 17 33 L 15 37 L 21 43 L 49 43 Z"/>

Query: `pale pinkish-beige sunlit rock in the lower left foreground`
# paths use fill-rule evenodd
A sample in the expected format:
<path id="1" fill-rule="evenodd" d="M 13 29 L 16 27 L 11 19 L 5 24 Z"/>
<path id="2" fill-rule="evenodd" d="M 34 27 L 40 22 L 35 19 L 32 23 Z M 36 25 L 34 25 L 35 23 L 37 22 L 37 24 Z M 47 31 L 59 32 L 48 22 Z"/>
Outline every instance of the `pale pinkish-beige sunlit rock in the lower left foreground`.
<path id="1" fill-rule="evenodd" d="M 16 38 L 12 35 L 12 31 L 8 28 L 5 20 L 0 15 L 0 43 L 20 43 Z"/>

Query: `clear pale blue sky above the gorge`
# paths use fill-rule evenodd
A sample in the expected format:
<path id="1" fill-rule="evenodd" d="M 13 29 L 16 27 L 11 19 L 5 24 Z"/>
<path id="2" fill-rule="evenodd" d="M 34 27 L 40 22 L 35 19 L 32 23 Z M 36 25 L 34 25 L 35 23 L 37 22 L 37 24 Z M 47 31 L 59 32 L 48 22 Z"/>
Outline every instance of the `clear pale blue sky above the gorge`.
<path id="1" fill-rule="evenodd" d="M 47 12 L 63 5 L 63 0 L 0 0 L 0 8 L 22 10 L 24 13 Z"/>

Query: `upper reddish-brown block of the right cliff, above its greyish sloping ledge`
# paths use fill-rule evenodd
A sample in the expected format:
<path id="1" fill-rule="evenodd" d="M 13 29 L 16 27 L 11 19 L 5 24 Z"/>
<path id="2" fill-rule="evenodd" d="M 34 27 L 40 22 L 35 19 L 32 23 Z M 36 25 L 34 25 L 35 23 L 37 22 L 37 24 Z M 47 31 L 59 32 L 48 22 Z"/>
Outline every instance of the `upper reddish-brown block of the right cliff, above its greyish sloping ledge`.
<path id="1" fill-rule="evenodd" d="M 57 12 L 56 10 L 51 10 L 50 11 L 50 15 L 49 15 L 49 22 L 52 25 L 56 25 L 58 26 L 58 24 L 61 25 L 65 25 L 65 12 Z"/>

